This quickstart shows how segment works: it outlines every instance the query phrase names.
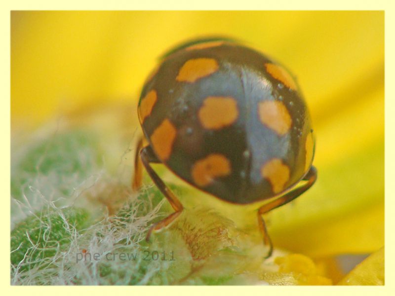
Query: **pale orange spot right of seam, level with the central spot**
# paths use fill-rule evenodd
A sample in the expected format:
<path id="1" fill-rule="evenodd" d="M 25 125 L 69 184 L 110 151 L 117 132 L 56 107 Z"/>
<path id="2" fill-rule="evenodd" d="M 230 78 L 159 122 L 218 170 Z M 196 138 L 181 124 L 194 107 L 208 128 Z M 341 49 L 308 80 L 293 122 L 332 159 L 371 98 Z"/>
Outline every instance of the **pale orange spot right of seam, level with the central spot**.
<path id="1" fill-rule="evenodd" d="M 259 119 L 278 135 L 285 135 L 292 119 L 285 105 L 279 101 L 261 101 L 258 106 Z"/>

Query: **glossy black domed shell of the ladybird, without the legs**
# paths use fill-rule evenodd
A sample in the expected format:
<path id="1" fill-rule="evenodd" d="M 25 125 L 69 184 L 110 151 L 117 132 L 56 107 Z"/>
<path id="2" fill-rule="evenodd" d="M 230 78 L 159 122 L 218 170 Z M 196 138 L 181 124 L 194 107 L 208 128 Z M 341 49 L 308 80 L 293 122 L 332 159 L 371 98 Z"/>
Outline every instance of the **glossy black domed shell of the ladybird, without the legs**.
<path id="1" fill-rule="evenodd" d="M 204 41 L 196 44 L 203 46 L 180 47 L 166 56 L 143 87 L 140 123 L 158 158 L 188 183 L 237 204 L 271 198 L 296 185 L 312 165 L 315 146 L 309 111 L 297 84 L 289 85 L 270 73 L 267 65 L 278 64 L 250 48 L 229 40 L 206 47 Z M 218 67 L 193 82 L 177 80 L 183 65 L 195 59 L 215 60 Z M 142 116 L 142 101 L 150 91 L 155 91 L 156 101 Z M 237 118 L 222 128 L 204 127 L 199 110 L 208 97 L 233 98 Z M 290 118 L 290 122 L 282 124 L 286 132 L 279 133 L 262 122 L 266 113 L 260 113 L 259 104 L 265 101 L 285 107 L 281 107 L 288 114 L 284 118 Z M 226 114 L 218 112 L 218 116 Z M 166 144 L 170 150 L 165 158 L 158 153 L 161 143 L 152 141 L 163 121 L 174 127 L 174 139 L 171 145 Z M 229 170 L 212 176 L 209 184 L 199 184 L 194 178 L 194 166 L 213 154 L 224 156 Z M 269 162 L 273 166 L 264 170 Z M 268 172 L 269 177 L 263 172 Z"/>

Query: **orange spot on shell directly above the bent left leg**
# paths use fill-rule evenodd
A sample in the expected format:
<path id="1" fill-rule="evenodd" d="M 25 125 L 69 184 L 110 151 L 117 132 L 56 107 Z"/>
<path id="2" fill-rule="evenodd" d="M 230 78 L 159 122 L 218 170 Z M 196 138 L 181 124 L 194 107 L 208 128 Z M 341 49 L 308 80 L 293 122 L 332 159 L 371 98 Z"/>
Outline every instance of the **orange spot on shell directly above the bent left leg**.
<path id="1" fill-rule="evenodd" d="M 151 136 L 154 151 L 162 161 L 166 161 L 171 154 L 177 129 L 168 119 L 164 119 Z"/>

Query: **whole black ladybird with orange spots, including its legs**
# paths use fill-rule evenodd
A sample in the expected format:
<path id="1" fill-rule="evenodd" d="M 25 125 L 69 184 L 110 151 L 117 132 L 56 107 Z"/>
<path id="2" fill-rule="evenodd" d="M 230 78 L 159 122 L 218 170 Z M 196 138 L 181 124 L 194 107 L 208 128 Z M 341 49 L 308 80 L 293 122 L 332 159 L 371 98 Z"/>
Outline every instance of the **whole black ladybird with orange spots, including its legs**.
<path id="1" fill-rule="evenodd" d="M 262 215 L 295 199 L 316 181 L 315 137 L 298 84 L 280 64 L 230 39 L 199 39 L 166 54 L 143 87 L 138 117 L 148 146 L 136 149 L 134 189 L 142 165 L 170 202 L 183 210 L 150 163 L 215 197 L 257 210 L 263 241 L 273 251 Z M 140 161 L 141 160 L 141 161 Z"/>

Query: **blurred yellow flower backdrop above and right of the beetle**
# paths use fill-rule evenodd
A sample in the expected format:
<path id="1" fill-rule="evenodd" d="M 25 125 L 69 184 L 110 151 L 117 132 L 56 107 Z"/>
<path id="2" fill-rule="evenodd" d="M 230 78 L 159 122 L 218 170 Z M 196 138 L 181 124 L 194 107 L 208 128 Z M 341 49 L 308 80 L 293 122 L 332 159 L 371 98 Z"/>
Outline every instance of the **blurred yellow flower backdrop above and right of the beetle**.
<path id="1" fill-rule="evenodd" d="M 163 52 L 208 35 L 286 65 L 312 114 L 318 182 L 273 214 L 275 244 L 315 256 L 383 246 L 383 11 L 14 11 L 12 128 L 81 106 L 137 104 Z"/>

